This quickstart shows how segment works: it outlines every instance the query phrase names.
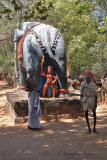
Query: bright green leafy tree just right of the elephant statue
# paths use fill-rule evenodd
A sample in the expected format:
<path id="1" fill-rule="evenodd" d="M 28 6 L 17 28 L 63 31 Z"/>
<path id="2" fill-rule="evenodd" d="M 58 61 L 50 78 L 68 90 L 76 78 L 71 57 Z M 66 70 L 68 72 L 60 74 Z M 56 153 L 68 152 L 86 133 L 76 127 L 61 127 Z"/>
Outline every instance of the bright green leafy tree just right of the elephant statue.
<path id="1" fill-rule="evenodd" d="M 64 35 L 73 77 L 78 77 L 94 63 L 93 55 L 89 52 L 98 38 L 97 24 L 92 16 L 93 8 L 91 2 L 58 0 L 54 5 L 54 15 L 52 11 L 53 22 Z"/>

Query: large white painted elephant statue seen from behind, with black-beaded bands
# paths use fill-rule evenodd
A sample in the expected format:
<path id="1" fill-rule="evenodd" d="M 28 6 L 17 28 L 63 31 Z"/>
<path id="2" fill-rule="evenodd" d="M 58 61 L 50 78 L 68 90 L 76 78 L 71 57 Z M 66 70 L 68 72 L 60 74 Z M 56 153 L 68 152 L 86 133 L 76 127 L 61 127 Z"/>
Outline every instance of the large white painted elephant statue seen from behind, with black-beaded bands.
<path id="1" fill-rule="evenodd" d="M 39 85 L 40 61 L 44 56 L 45 67 L 53 67 L 60 88 L 67 88 L 64 39 L 58 29 L 44 23 L 24 22 L 20 30 L 15 30 L 14 42 L 17 42 L 18 46 L 20 85 L 24 85 L 26 73 L 31 67 L 35 69 Z"/>

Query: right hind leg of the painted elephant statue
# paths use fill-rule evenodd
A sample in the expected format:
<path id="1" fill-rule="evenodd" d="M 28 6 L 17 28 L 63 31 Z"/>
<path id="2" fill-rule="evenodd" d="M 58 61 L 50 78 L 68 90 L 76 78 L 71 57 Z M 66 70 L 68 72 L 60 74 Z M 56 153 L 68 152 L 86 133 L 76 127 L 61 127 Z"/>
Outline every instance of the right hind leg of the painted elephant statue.
<path id="1" fill-rule="evenodd" d="M 66 53 L 64 48 L 64 40 L 60 32 L 56 35 L 51 50 L 54 55 L 54 59 L 52 58 L 51 61 L 58 76 L 60 88 L 67 88 Z"/>

